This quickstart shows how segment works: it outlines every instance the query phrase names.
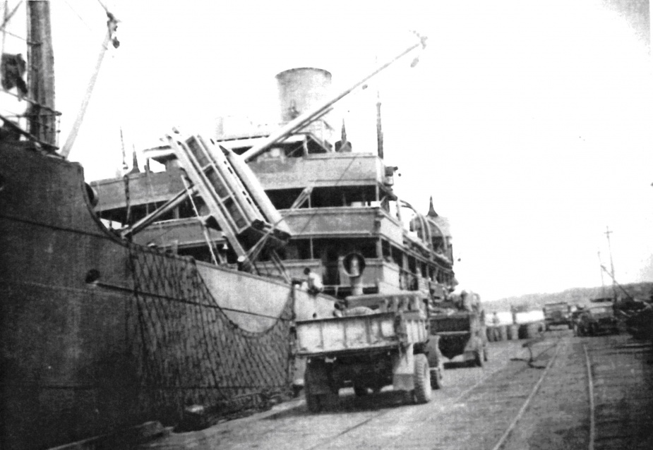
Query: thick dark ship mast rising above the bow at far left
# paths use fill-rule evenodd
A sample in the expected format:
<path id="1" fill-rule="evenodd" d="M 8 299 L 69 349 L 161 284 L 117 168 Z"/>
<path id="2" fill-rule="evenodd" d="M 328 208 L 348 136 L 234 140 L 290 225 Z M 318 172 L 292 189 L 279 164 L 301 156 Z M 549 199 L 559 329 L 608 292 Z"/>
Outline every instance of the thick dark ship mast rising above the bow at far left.
<path id="1" fill-rule="evenodd" d="M 50 25 L 50 2 L 28 1 L 28 92 L 34 102 L 26 116 L 28 133 L 56 145 L 54 110 L 54 51 Z"/>

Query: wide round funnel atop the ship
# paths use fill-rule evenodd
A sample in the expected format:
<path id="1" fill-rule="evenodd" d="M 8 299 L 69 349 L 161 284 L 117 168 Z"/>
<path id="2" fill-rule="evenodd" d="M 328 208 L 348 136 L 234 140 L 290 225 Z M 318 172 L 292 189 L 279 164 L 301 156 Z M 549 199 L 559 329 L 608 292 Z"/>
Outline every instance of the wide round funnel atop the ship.
<path id="1" fill-rule="evenodd" d="M 331 73 L 321 68 L 292 68 L 277 73 L 275 78 L 282 122 L 292 121 L 325 102 L 331 89 Z"/>

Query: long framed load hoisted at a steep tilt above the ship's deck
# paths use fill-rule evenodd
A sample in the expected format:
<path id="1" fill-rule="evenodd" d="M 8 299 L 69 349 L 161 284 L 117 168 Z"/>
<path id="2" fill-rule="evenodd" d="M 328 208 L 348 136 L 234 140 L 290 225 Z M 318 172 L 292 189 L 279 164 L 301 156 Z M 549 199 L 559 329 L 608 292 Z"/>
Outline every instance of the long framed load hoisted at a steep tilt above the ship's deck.
<path id="1" fill-rule="evenodd" d="M 289 229 L 251 169 L 200 135 L 171 133 L 166 137 L 208 208 L 205 224 L 224 233 L 244 269 L 250 269 L 256 255 L 266 248 L 284 275 L 275 249 L 288 242 Z"/>

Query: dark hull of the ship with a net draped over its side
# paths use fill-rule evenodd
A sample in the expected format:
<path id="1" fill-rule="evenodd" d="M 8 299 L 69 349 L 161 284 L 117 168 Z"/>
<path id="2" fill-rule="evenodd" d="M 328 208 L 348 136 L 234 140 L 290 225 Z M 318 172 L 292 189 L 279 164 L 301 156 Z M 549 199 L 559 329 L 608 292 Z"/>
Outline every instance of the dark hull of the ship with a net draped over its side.
<path id="1" fill-rule="evenodd" d="M 288 391 L 292 320 L 328 315 L 328 298 L 121 241 L 92 212 L 78 164 L 6 144 L 0 161 L 4 449 Z"/>

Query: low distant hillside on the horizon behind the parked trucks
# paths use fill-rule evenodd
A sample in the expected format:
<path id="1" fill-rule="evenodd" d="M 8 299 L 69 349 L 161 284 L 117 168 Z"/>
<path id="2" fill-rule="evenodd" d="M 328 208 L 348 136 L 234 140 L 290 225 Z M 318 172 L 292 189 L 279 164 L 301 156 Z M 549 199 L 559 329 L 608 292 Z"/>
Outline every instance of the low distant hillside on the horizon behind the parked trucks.
<path id="1" fill-rule="evenodd" d="M 651 300 L 653 296 L 653 282 L 649 283 L 634 283 L 623 285 L 625 291 L 630 293 L 637 300 Z M 618 293 L 622 297 L 625 294 L 621 289 Z M 572 305 L 585 305 L 589 303 L 592 298 L 601 298 L 604 296 L 612 296 L 612 286 L 606 286 L 605 295 L 604 288 L 570 288 L 566 291 L 558 293 L 531 293 L 525 296 L 501 298 L 485 303 L 486 311 L 508 311 L 511 306 L 516 308 L 524 308 L 525 310 L 539 310 L 546 303 L 567 302 Z M 481 296 L 482 300 L 482 296 Z"/>

